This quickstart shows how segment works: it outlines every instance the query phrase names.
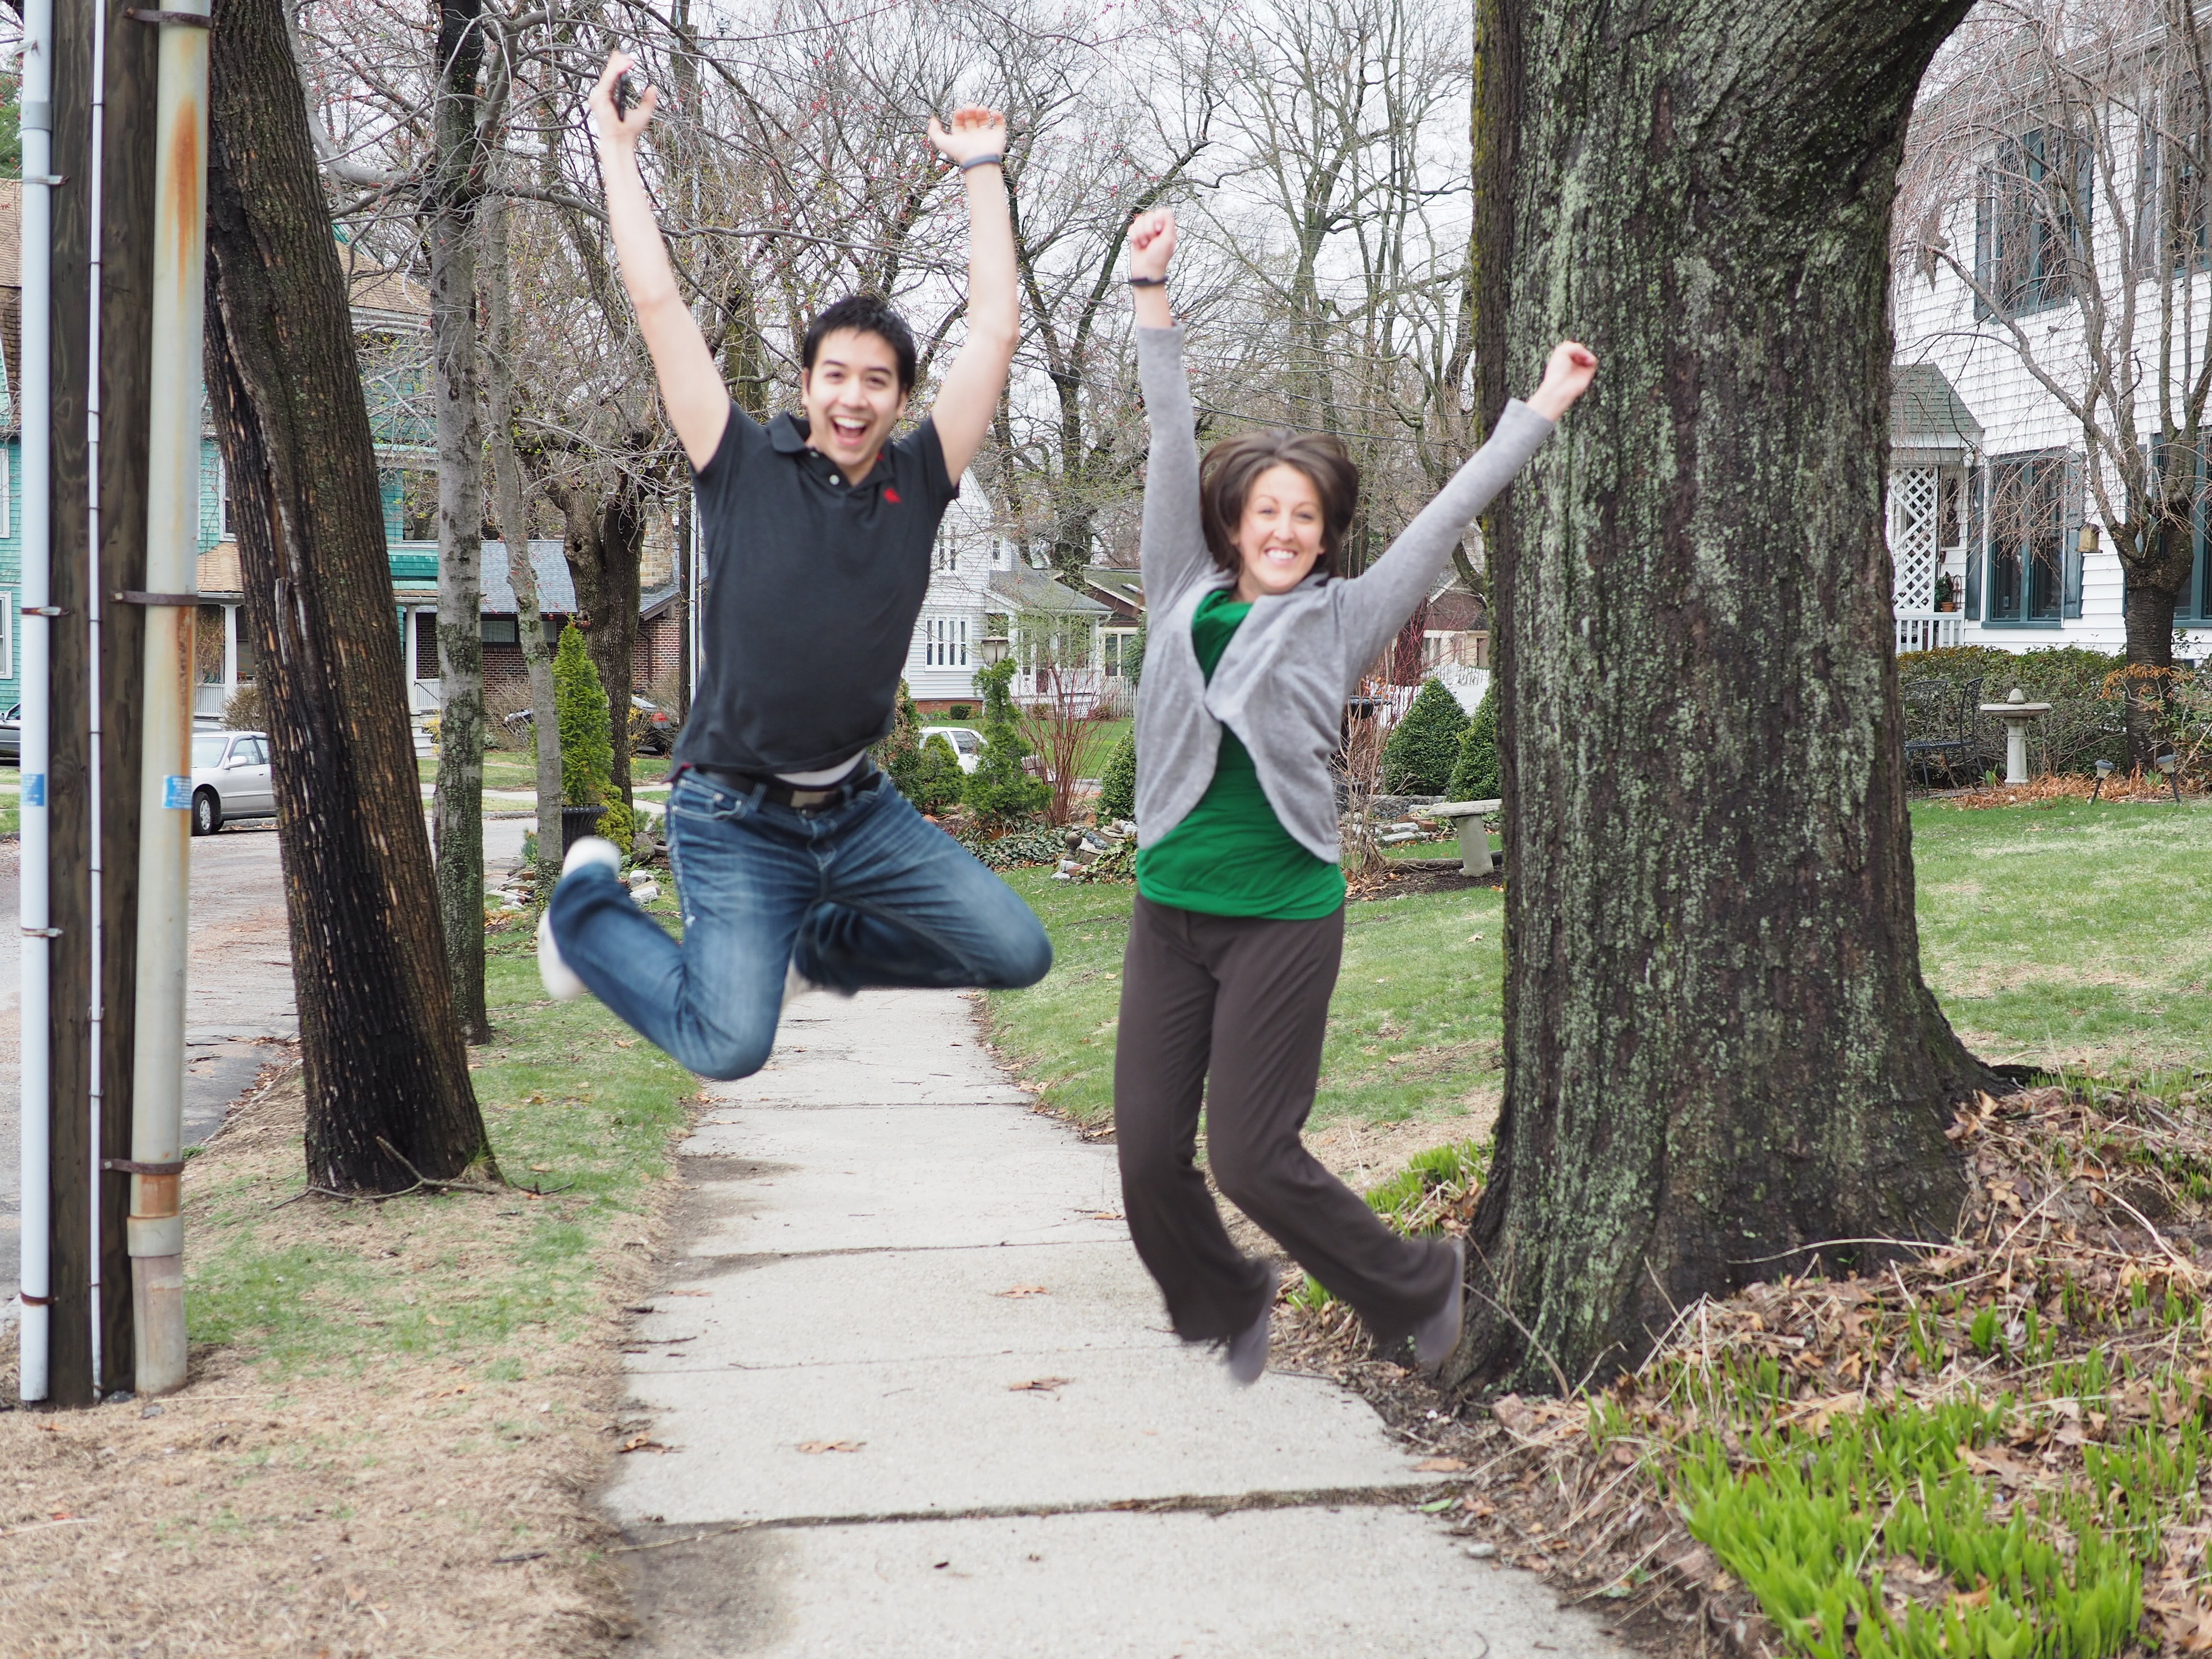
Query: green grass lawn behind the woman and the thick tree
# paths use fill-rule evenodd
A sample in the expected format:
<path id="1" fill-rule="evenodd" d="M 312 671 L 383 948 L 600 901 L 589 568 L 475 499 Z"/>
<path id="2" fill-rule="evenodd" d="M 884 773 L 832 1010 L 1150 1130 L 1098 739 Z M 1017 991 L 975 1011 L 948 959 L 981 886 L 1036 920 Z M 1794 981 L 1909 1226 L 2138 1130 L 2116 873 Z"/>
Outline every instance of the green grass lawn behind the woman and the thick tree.
<path id="1" fill-rule="evenodd" d="M 1913 854 L 1924 971 L 1975 1053 L 2099 1075 L 2212 1064 L 2212 807 L 1922 803 Z M 1011 880 L 1057 960 L 1044 984 L 991 993 L 998 1044 L 1051 1104 L 1099 1119 L 1133 889 Z M 1469 889 L 1349 907 L 1316 1121 L 1498 1099 L 1502 902 Z"/>

